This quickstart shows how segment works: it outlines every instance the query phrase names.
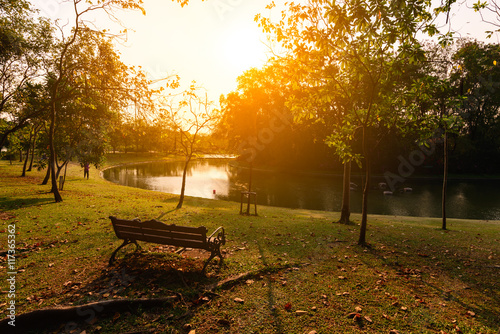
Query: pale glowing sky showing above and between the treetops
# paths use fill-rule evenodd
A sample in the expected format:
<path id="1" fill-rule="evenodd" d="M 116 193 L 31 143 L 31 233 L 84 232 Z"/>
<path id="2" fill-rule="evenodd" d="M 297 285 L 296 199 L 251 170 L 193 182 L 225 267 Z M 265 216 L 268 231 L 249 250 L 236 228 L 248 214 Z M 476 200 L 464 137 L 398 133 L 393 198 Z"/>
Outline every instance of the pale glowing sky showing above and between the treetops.
<path id="1" fill-rule="evenodd" d="M 117 49 L 125 64 L 141 66 L 151 79 L 177 74 L 186 88 L 194 80 L 218 103 L 221 94 L 236 89 L 239 75 L 261 67 L 268 57 L 266 36 L 254 21 L 255 15 L 279 17 L 286 1 L 275 0 L 277 8 L 270 12 L 265 7 L 271 0 L 190 0 L 183 8 L 171 0 L 144 0 L 146 16 L 117 13 L 128 28 L 127 41 L 117 44 Z M 72 17 L 69 2 L 32 2 L 51 19 L 67 22 Z M 103 27 L 110 22 L 104 16 L 88 19 Z M 484 39 L 487 27 L 466 6 L 455 7 L 451 19 L 461 36 Z"/>

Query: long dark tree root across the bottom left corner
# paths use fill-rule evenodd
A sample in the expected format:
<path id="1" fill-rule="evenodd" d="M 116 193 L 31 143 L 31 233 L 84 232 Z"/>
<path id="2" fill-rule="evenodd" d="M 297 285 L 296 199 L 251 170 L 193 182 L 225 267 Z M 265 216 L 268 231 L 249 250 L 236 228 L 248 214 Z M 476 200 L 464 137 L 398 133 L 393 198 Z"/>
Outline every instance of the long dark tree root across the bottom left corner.
<path id="1" fill-rule="evenodd" d="M 76 326 L 76 323 L 93 323 L 97 316 L 109 313 L 120 313 L 131 308 L 141 306 L 151 308 L 162 306 L 179 300 L 178 296 L 164 298 L 138 298 L 138 299 L 113 299 L 103 300 L 95 303 L 79 306 L 61 306 L 35 310 L 28 313 L 16 315 L 15 327 L 12 319 L 6 318 L 0 321 L 0 333 L 25 333 L 29 331 L 40 331 L 51 326 L 66 324 L 67 327 Z M 9 324 L 11 323 L 11 324 Z"/>

